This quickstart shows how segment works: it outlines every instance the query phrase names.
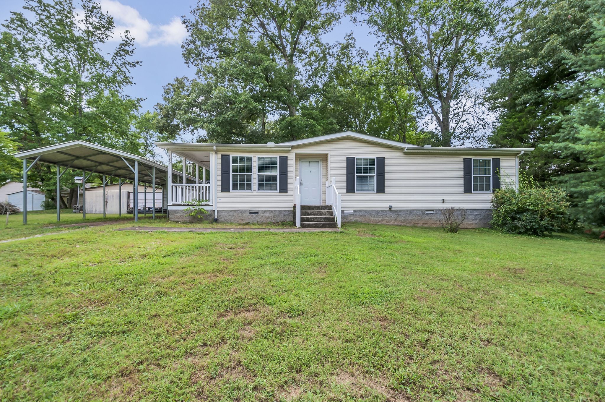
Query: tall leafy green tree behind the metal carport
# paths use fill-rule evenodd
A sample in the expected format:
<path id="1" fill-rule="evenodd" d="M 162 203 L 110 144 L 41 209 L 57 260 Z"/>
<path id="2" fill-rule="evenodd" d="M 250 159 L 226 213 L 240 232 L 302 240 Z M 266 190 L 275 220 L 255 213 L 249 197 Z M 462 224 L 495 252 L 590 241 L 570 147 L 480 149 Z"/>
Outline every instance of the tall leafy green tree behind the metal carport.
<path id="1" fill-rule="evenodd" d="M 123 93 L 139 65 L 128 31 L 106 53 L 115 25 L 98 3 L 27 0 L 24 10 L 2 24 L 0 128 L 19 150 L 83 139 L 138 153 L 130 124 L 140 101 Z M 28 177 L 54 200 L 53 168 Z"/>

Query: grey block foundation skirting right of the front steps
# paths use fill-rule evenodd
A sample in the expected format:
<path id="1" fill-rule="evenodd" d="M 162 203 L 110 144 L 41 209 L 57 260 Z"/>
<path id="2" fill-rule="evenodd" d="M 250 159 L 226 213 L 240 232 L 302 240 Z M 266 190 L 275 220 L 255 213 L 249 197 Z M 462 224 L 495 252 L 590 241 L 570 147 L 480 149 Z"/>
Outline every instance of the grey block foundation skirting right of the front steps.
<path id="1" fill-rule="evenodd" d="M 409 226 L 441 226 L 440 209 L 428 213 L 426 209 L 353 209 L 346 214 L 342 209 L 342 222 L 391 223 Z M 466 209 L 466 219 L 461 228 L 487 228 L 491 220 L 491 209 Z"/>

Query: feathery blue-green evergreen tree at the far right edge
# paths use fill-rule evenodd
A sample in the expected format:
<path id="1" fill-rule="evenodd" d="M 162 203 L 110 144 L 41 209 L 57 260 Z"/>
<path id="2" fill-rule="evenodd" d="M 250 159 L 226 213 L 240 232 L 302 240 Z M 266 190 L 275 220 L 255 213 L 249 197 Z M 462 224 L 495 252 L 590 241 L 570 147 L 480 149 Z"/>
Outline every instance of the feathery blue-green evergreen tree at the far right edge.
<path id="1" fill-rule="evenodd" d="M 558 133 L 541 148 L 561 160 L 574 161 L 555 181 L 570 194 L 578 221 L 605 231 L 605 2 L 589 4 L 594 26 L 590 43 L 565 60 L 577 71 L 575 79 L 557 85 L 549 94 L 575 102 L 555 117 Z"/>

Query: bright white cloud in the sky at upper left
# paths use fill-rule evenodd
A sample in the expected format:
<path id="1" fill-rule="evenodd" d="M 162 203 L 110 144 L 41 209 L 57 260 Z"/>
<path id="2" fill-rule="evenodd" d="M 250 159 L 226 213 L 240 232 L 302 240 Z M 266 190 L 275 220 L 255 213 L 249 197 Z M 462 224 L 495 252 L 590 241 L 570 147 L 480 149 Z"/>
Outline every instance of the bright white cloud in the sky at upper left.
<path id="1" fill-rule="evenodd" d="M 109 13 L 116 23 L 113 39 L 119 40 L 120 33 L 129 30 L 134 40 L 142 46 L 180 45 L 187 36 L 185 26 L 178 17 L 168 24 L 154 25 L 143 18 L 136 8 L 116 0 L 101 0 L 101 9 Z"/>

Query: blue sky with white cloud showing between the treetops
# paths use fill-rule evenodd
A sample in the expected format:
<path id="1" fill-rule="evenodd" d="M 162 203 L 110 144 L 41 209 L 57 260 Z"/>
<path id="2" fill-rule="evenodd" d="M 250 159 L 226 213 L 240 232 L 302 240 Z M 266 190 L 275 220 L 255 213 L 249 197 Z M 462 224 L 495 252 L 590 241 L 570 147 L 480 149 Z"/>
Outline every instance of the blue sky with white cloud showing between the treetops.
<path id="1" fill-rule="evenodd" d="M 175 77 L 194 76 L 194 69 L 185 65 L 181 56 L 181 41 L 185 38 L 185 28 L 180 18 L 188 15 L 196 4 L 190 1 L 160 0 L 100 0 L 103 10 L 114 16 L 121 30 L 128 28 L 135 39 L 136 58 L 142 65 L 132 71 L 134 85 L 126 93 L 133 97 L 143 97 L 142 110 L 152 110 L 162 100 L 163 85 Z M 21 11 L 24 1 L 0 1 L 0 20 L 10 18 L 11 11 Z M 368 28 L 353 24 L 348 17 L 341 21 L 326 39 L 329 42 L 342 41 L 345 34 L 354 32 L 358 45 L 370 53 L 376 48 L 376 38 Z"/>

